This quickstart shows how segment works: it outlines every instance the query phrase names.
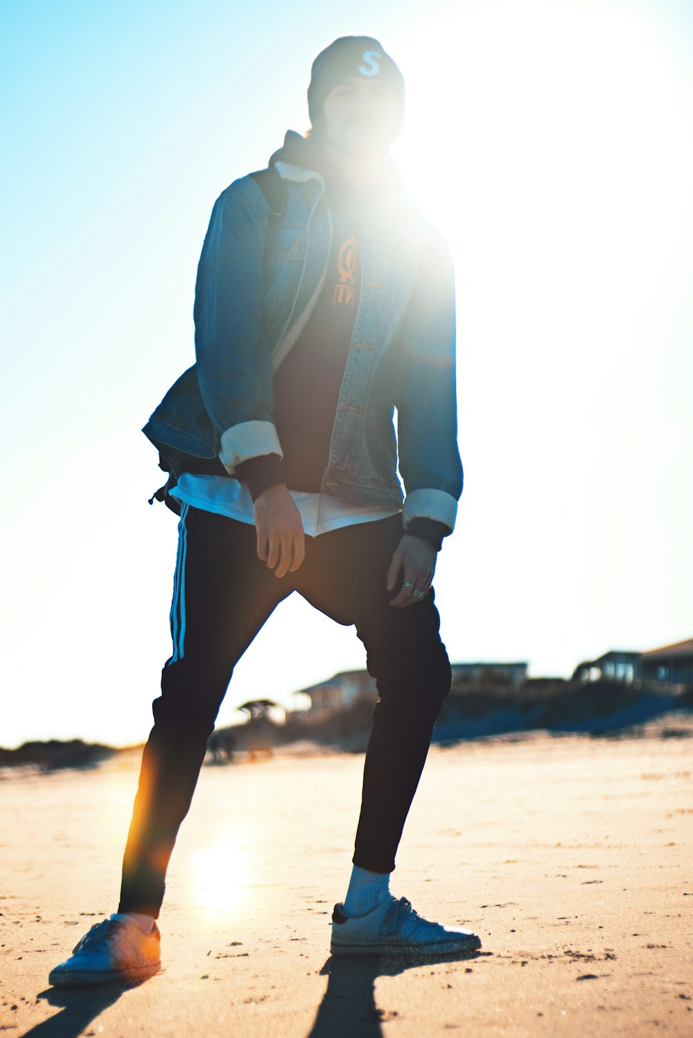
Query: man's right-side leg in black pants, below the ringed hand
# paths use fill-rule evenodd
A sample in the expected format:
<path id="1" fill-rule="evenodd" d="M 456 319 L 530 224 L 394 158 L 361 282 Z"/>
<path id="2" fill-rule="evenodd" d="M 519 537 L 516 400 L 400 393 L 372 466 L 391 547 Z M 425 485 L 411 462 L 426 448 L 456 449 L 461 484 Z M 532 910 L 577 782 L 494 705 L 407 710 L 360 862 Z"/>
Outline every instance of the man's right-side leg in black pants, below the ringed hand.
<path id="1" fill-rule="evenodd" d="M 425 763 L 434 723 L 450 689 L 450 665 L 429 592 L 392 608 L 385 578 L 401 538 L 398 516 L 325 534 L 298 591 L 340 623 L 354 623 L 379 701 L 366 753 L 354 864 L 389 873 Z M 301 571 L 299 571 L 299 575 Z"/>

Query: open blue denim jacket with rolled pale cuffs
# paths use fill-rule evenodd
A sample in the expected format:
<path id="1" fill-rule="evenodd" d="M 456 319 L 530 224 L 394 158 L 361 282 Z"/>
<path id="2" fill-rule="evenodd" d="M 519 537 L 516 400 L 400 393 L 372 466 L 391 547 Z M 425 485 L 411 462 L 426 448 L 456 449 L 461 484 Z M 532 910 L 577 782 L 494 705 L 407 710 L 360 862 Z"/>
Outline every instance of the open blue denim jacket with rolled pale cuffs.
<path id="1" fill-rule="evenodd" d="M 332 226 L 323 177 L 286 162 L 276 168 L 286 198 L 270 249 L 270 207 L 252 176 L 235 181 L 215 203 L 195 288 L 196 363 L 143 430 L 174 467 L 181 456 L 218 456 L 232 475 L 249 458 L 282 454 L 273 376 L 320 296 Z M 451 529 L 463 473 L 447 249 L 413 203 L 396 194 L 367 216 L 360 269 L 322 491 L 364 506 L 396 509 L 404 500 L 405 527 L 424 517 Z"/>

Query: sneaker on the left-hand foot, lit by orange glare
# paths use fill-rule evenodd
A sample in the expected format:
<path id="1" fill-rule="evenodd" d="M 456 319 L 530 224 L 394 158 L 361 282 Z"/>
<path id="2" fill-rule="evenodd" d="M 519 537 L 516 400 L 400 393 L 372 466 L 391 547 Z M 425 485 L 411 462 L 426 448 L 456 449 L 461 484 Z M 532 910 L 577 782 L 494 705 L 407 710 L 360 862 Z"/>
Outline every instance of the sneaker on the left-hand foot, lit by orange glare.
<path id="1" fill-rule="evenodd" d="M 154 921 L 153 921 L 154 922 Z M 112 984 L 145 980 L 161 968 L 161 934 L 142 933 L 135 920 L 115 912 L 94 923 L 72 956 L 51 969 L 49 984 Z"/>

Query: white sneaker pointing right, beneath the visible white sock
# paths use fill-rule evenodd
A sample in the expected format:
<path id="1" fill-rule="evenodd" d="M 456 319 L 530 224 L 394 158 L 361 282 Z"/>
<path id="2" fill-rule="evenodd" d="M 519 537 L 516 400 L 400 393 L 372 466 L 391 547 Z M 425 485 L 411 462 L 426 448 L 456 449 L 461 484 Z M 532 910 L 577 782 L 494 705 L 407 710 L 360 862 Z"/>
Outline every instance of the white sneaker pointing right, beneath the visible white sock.
<path id="1" fill-rule="evenodd" d="M 365 916 L 345 916 L 344 906 L 332 913 L 333 955 L 438 955 L 473 952 L 481 941 L 471 930 L 429 923 L 414 911 L 411 901 L 382 892 Z"/>

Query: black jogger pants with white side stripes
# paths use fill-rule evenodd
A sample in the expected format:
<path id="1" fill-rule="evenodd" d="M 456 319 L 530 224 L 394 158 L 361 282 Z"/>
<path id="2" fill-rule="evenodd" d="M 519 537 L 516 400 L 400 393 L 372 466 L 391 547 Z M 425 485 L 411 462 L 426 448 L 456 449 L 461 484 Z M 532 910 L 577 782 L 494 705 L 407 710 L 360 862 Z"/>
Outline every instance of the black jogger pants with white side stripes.
<path id="1" fill-rule="evenodd" d="M 355 625 L 366 648 L 379 700 L 353 861 L 372 872 L 394 869 L 434 722 L 450 688 L 433 590 L 416 605 L 389 604 L 398 589 L 386 590 L 386 573 L 401 536 L 396 515 L 307 537 L 303 565 L 277 579 L 257 557 L 254 526 L 183 506 L 171 607 L 173 654 L 154 702 L 119 911 L 159 916 L 171 851 L 233 667 L 294 591 L 337 623 Z"/>

